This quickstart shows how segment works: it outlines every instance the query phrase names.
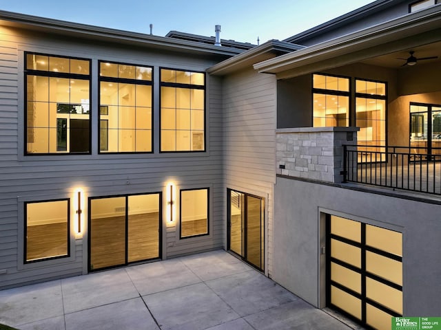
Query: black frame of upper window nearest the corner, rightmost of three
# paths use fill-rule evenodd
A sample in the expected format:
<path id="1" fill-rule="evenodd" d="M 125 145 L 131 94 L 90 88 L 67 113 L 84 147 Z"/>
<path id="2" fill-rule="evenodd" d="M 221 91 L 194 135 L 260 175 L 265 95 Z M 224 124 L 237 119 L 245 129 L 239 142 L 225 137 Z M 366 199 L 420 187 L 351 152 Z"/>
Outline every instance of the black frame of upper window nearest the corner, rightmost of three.
<path id="1" fill-rule="evenodd" d="M 183 84 L 183 83 L 170 83 L 162 81 L 162 70 L 172 70 L 177 72 L 192 72 L 196 74 L 204 75 L 204 85 L 193 85 L 193 84 Z M 163 151 L 161 147 L 162 139 L 162 128 L 161 128 L 161 118 L 162 118 L 162 87 L 176 87 L 176 88 L 186 88 L 186 89 L 200 89 L 204 91 L 204 137 L 203 150 L 171 150 Z M 176 108 L 175 108 L 176 109 Z M 175 128 L 175 131 L 176 128 Z M 203 71 L 187 70 L 187 69 L 176 69 L 173 67 L 159 67 L 159 153 L 205 153 L 207 152 L 207 73 Z"/>

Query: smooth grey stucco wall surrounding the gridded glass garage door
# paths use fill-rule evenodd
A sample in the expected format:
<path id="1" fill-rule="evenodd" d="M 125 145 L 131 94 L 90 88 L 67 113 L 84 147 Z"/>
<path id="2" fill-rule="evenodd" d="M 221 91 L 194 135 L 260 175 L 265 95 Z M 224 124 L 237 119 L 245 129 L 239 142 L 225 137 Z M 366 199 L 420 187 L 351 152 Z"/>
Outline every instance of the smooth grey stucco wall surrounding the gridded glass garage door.
<path id="1" fill-rule="evenodd" d="M 272 278 L 316 307 L 324 298 L 320 212 L 401 231 L 404 315 L 440 314 L 440 204 L 277 177 Z"/>

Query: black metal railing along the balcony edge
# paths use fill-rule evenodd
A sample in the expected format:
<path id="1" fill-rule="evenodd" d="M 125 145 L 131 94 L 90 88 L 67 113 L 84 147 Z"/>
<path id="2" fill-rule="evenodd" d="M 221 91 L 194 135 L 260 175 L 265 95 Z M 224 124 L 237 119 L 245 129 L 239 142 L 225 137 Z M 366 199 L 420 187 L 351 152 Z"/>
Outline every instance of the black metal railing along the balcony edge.
<path id="1" fill-rule="evenodd" d="M 343 147 L 345 182 L 441 195 L 441 148 Z"/>

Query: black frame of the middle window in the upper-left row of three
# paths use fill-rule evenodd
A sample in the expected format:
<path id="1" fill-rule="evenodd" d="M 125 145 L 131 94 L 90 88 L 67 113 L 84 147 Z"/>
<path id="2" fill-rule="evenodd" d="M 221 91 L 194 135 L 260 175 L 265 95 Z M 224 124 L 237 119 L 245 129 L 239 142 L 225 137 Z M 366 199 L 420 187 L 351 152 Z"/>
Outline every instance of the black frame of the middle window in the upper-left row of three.
<path id="1" fill-rule="evenodd" d="M 141 80 L 141 79 L 130 79 L 130 78 L 116 78 L 116 77 L 108 77 L 108 76 L 101 76 L 101 63 L 111 63 L 115 65 L 130 65 L 132 67 L 147 67 L 152 69 L 152 79 L 151 80 Z M 143 64 L 137 64 L 137 63 L 123 63 L 123 62 L 115 62 L 115 61 L 105 61 L 105 60 L 99 60 L 98 61 L 98 107 L 99 107 L 99 114 L 98 114 L 98 153 L 99 155 L 118 155 L 118 154 L 148 154 L 148 153 L 154 153 L 154 67 L 151 65 L 143 65 Z M 105 120 L 101 118 L 101 107 L 108 107 L 109 104 L 101 104 L 101 83 L 107 82 L 107 83 L 126 83 L 130 85 L 145 85 L 145 86 L 151 86 L 152 87 L 152 95 L 151 95 L 151 110 L 152 110 L 152 118 L 151 118 L 151 151 L 101 151 L 101 120 Z M 135 106 L 136 107 L 136 106 Z M 136 119 L 135 119 L 136 120 Z M 136 129 L 134 129 L 136 131 Z M 135 137 L 136 139 L 136 137 Z M 109 146 L 108 142 L 108 133 L 107 133 L 107 141 L 106 141 L 107 148 Z M 135 140 L 136 143 L 136 140 Z M 135 146 L 136 148 L 136 146 Z"/>

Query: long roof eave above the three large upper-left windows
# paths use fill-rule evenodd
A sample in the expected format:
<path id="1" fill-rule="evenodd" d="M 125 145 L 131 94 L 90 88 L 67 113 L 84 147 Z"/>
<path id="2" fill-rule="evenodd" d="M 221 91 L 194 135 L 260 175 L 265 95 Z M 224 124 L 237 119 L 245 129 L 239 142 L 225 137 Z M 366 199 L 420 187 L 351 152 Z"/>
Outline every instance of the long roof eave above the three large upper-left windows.
<path id="1" fill-rule="evenodd" d="M 165 36 L 154 36 L 152 34 L 101 28 L 94 25 L 46 19 L 43 17 L 6 12 L 3 10 L 0 10 L 0 25 L 32 30 L 34 32 L 89 39 L 92 41 L 96 40 L 126 45 L 138 45 L 141 47 L 150 47 L 175 52 L 185 51 L 192 54 L 230 57 L 243 52 L 243 50 L 234 49 L 232 47 L 208 45 L 206 43 L 167 38 Z"/>

